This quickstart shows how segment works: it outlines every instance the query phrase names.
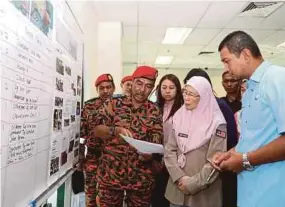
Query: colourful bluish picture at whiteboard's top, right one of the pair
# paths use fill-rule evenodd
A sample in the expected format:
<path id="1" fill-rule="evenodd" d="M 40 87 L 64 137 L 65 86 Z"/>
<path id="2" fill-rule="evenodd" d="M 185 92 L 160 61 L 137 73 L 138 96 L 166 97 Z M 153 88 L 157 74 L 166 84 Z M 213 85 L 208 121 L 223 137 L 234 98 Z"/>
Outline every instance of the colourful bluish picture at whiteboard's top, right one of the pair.
<path id="1" fill-rule="evenodd" d="M 53 12 L 50 1 L 32 1 L 30 21 L 50 39 L 53 31 Z"/>

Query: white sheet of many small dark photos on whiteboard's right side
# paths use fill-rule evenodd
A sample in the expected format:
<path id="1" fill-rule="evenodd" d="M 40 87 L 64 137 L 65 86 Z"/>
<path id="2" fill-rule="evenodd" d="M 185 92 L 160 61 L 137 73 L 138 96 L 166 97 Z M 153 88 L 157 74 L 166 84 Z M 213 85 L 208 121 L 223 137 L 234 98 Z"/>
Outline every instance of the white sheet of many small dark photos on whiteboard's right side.
<path id="1" fill-rule="evenodd" d="M 82 77 L 65 62 L 60 55 L 56 58 L 50 176 L 72 166 L 79 155 Z"/>

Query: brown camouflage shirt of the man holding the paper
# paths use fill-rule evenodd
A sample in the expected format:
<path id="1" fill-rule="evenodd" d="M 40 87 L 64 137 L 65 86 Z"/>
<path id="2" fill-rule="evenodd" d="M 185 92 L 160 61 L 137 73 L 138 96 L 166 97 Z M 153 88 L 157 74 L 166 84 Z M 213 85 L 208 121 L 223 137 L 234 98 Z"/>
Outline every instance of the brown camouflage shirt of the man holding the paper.
<path id="1" fill-rule="evenodd" d="M 95 126 L 124 127 L 131 131 L 134 139 L 162 144 L 162 115 L 151 101 L 135 108 L 129 97 L 113 98 L 102 105 L 91 122 Z M 156 161 L 140 161 L 137 150 L 121 137 L 101 140 L 104 147 L 97 171 L 99 185 L 117 190 L 142 191 L 153 187 L 152 166 Z"/>

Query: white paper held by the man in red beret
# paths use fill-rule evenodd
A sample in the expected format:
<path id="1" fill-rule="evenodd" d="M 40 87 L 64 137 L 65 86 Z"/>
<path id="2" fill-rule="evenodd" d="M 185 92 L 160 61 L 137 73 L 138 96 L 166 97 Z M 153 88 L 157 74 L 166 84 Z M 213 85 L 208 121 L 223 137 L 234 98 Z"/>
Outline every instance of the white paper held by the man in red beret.
<path id="1" fill-rule="evenodd" d="M 136 148 L 139 152 L 145 153 L 145 154 L 163 154 L 163 145 L 162 144 L 155 144 L 151 142 L 141 141 L 137 140 L 131 137 L 127 137 L 124 135 L 120 135 L 126 142 L 128 142 L 130 145 L 132 145 L 134 148 Z"/>

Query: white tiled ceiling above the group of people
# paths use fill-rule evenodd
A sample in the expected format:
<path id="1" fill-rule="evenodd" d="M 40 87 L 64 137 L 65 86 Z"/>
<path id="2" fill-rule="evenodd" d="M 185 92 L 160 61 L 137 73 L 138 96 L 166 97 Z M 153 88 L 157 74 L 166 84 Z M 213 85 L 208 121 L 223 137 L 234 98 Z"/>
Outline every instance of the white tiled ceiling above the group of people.
<path id="1" fill-rule="evenodd" d="M 123 67 L 148 64 L 164 69 L 208 67 L 221 70 L 217 52 L 220 41 L 231 31 L 244 30 L 261 47 L 264 57 L 285 66 L 285 4 L 266 18 L 239 16 L 250 1 L 95 1 L 98 21 L 123 25 Z M 166 28 L 191 27 L 183 45 L 161 44 Z M 198 55 L 202 51 L 215 52 Z M 155 65 L 158 55 L 174 56 L 170 65 Z"/>

